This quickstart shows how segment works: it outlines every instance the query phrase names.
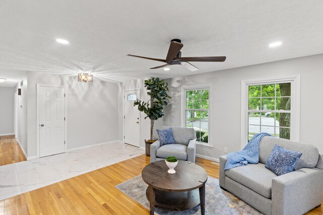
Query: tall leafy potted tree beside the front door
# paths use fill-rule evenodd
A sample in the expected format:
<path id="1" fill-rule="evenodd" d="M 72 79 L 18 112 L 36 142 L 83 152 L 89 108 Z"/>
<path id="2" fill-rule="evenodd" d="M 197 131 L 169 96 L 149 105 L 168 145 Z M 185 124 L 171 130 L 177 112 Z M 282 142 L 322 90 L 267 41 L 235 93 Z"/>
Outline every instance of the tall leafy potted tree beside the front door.
<path id="1" fill-rule="evenodd" d="M 169 104 L 168 98 L 172 98 L 167 94 L 168 92 L 168 83 L 164 80 L 159 80 L 159 78 L 150 78 L 145 80 L 144 86 L 147 89 L 147 94 L 150 95 L 148 101 L 141 101 L 137 99 L 134 102 L 134 106 L 138 105 L 138 110 L 145 113 L 150 119 L 150 139 L 145 140 L 146 142 L 146 155 L 150 155 L 150 144 L 155 140 L 152 139 L 153 133 L 153 123 L 155 120 L 164 116 L 163 108 Z"/>

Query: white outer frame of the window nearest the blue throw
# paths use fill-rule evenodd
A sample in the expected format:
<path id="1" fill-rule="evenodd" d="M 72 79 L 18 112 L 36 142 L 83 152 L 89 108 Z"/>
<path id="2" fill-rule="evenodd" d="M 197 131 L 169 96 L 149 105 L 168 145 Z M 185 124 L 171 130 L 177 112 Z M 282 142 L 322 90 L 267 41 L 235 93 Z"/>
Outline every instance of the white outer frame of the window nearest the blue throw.
<path id="1" fill-rule="evenodd" d="M 241 81 L 241 149 L 248 143 L 248 87 L 277 83 L 291 83 L 291 124 L 290 139 L 300 141 L 300 81 L 301 75 L 275 78 L 259 78 Z"/>

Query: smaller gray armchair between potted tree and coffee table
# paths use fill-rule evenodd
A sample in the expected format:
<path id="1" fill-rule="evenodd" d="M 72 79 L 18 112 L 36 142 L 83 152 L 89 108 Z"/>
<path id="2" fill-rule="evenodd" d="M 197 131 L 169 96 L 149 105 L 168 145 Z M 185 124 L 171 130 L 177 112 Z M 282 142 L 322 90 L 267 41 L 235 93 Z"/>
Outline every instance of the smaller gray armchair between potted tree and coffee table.
<path id="1" fill-rule="evenodd" d="M 164 126 L 163 129 L 170 127 Z M 150 163 L 176 156 L 180 160 L 195 163 L 196 140 L 193 128 L 172 127 L 176 144 L 160 146 L 157 140 L 150 145 Z"/>

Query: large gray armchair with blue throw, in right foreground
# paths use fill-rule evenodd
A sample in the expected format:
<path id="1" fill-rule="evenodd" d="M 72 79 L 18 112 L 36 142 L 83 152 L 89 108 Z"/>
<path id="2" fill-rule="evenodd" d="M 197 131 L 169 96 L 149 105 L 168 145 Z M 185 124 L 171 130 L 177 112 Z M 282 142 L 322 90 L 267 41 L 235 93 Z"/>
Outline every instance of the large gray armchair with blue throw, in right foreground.
<path id="1" fill-rule="evenodd" d="M 295 171 L 281 176 L 264 167 L 275 144 L 302 152 Z M 259 143 L 259 163 L 224 170 L 220 157 L 220 187 L 264 214 L 303 214 L 319 206 L 323 193 L 323 155 L 309 144 L 265 136 Z"/>

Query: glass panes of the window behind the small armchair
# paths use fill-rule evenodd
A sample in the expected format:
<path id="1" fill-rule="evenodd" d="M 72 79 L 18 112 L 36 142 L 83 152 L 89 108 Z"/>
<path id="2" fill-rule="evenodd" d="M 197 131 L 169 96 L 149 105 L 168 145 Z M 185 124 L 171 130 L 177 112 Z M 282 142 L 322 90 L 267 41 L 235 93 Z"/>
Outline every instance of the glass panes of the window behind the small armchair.
<path id="1" fill-rule="evenodd" d="M 210 145 L 210 86 L 184 87 L 183 97 L 184 126 L 195 130 L 199 144 Z"/>

